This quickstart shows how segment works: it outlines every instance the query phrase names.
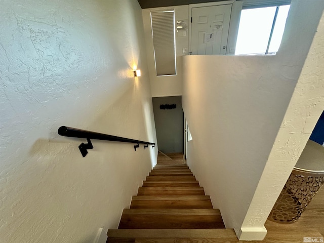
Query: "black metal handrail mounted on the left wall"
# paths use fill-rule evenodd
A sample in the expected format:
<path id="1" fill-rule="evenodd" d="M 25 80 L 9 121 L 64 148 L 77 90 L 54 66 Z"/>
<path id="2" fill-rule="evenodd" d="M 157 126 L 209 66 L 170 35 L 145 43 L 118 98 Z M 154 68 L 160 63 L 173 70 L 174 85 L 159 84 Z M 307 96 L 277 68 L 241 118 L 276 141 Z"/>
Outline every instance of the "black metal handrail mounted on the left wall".
<path id="1" fill-rule="evenodd" d="M 140 147 L 140 144 L 145 144 L 144 149 L 148 147 L 148 145 L 152 145 L 152 147 L 155 146 L 155 143 L 130 139 L 130 138 L 123 138 L 123 137 L 117 137 L 113 135 L 103 134 L 103 133 L 96 133 L 92 131 L 77 129 L 77 128 L 70 128 L 62 126 L 58 129 L 58 134 L 65 137 L 73 137 L 73 138 L 86 138 L 88 143 L 82 143 L 79 145 L 80 152 L 82 153 L 82 156 L 86 156 L 88 151 L 87 149 L 92 149 L 93 145 L 91 143 L 90 139 L 99 139 L 99 140 L 106 140 L 106 141 L 115 141 L 115 142 L 124 142 L 124 143 L 136 143 L 134 145 L 134 149 L 136 151 L 136 148 Z"/>

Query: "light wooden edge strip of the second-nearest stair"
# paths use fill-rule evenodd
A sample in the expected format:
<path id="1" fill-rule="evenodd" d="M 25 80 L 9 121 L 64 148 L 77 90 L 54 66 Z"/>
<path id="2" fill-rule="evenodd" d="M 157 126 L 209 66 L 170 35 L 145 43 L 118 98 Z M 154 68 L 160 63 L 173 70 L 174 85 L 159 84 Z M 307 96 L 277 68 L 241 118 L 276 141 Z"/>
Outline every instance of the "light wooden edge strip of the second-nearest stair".
<path id="1" fill-rule="evenodd" d="M 219 209 L 124 209 L 123 215 L 221 215 Z"/>

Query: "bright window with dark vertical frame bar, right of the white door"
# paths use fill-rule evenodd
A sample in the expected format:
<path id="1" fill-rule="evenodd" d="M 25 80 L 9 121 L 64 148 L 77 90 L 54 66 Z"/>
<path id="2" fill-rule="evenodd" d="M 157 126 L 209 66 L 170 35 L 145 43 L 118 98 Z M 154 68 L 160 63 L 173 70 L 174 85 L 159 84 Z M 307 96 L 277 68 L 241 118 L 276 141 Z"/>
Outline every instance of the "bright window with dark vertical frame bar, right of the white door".
<path id="1" fill-rule="evenodd" d="M 235 55 L 275 55 L 279 49 L 290 5 L 241 11 Z"/>

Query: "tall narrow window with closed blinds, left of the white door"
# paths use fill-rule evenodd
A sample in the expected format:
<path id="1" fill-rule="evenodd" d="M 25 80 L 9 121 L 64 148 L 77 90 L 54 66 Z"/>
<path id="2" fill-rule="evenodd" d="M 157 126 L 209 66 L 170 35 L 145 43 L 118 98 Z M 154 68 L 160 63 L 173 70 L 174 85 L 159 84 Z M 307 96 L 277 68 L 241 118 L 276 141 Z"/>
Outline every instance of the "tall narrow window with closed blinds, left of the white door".
<path id="1" fill-rule="evenodd" d="M 156 75 L 176 75 L 174 11 L 151 12 L 151 23 Z"/>

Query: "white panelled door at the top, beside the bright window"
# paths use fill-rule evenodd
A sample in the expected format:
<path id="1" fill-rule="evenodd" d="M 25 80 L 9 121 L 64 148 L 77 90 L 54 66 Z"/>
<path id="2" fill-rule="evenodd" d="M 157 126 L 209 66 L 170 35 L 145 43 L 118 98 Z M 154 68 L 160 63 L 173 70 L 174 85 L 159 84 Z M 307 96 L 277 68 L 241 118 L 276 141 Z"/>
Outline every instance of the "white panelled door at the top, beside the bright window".
<path id="1" fill-rule="evenodd" d="M 226 54 L 231 9 L 231 4 L 192 8 L 192 55 Z"/>

